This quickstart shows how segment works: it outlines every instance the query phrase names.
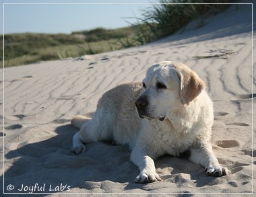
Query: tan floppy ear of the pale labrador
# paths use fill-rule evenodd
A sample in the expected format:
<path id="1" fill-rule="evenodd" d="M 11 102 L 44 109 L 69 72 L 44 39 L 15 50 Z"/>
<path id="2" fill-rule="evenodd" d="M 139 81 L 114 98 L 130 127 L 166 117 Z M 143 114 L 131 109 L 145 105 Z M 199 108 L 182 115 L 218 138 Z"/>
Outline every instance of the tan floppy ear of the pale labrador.
<path id="1" fill-rule="evenodd" d="M 178 75 L 181 80 L 181 102 L 189 105 L 204 89 L 205 83 L 193 71 L 183 70 Z"/>

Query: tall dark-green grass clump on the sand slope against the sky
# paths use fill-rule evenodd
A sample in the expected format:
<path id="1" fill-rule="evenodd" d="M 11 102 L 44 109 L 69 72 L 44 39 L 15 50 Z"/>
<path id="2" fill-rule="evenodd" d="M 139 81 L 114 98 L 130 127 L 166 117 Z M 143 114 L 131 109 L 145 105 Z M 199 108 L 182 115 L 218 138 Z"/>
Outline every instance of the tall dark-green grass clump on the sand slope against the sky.
<path id="1" fill-rule="evenodd" d="M 224 11 L 233 0 L 160 0 L 161 4 L 142 10 L 142 18 L 131 24 L 135 39 L 141 44 L 152 42 L 185 29 L 193 19 L 199 19 L 198 27 L 203 26 L 203 17 Z M 197 3 L 197 4 L 192 4 Z M 219 3 L 219 4 L 209 4 Z"/>

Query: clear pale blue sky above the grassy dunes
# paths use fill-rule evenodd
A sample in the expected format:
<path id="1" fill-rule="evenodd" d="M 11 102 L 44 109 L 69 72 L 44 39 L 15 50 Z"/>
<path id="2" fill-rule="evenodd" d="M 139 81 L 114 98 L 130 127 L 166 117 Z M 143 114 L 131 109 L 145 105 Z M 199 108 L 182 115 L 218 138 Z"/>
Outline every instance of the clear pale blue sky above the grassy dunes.
<path id="1" fill-rule="evenodd" d="M 157 0 L 0 0 L 0 34 L 115 29 L 136 22 Z M 26 4 L 22 4 L 26 3 Z M 110 3 L 110 4 L 107 4 Z"/>

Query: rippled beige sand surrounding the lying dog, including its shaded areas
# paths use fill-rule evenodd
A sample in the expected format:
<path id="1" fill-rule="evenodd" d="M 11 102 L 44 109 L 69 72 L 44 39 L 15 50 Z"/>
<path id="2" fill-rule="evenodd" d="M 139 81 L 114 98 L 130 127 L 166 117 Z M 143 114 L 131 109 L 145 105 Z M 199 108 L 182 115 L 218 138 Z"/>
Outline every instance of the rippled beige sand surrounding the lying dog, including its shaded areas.
<path id="1" fill-rule="evenodd" d="M 1 193 L 249 196 L 256 182 L 251 16 L 251 5 L 239 5 L 238 10 L 232 5 L 201 28 L 192 22 L 183 34 L 144 46 L 1 69 Z M 163 181 L 135 184 L 139 170 L 129 161 L 127 146 L 98 142 L 88 144 L 86 153 L 71 153 L 77 132 L 70 125 L 73 116 L 94 112 L 105 91 L 141 81 L 151 65 L 166 60 L 185 63 L 205 81 L 214 102 L 214 153 L 232 175 L 208 177 L 189 159 L 164 155 L 155 162 Z M 0 92 L 2 98 L 3 85 Z"/>

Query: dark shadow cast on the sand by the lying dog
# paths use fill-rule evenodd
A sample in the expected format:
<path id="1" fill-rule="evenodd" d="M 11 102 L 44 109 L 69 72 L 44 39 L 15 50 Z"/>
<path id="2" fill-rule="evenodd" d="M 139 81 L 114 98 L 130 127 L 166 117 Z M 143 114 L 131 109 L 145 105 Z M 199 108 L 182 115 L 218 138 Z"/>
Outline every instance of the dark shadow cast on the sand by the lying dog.
<path id="1" fill-rule="evenodd" d="M 56 136 L 34 143 L 23 142 L 17 149 L 9 151 L 5 158 L 13 161 L 11 166 L 5 167 L 5 186 L 11 184 L 18 189 L 22 179 L 24 186 L 63 184 L 69 188 L 92 190 L 94 187 L 101 188 L 104 182 L 106 187 L 111 186 L 108 183 L 110 181 L 125 184 L 125 190 L 147 190 L 147 184 L 134 183 L 139 169 L 129 161 L 129 147 L 105 142 L 88 143 L 85 153 L 75 155 L 70 148 L 73 134 L 77 131 L 70 124 L 58 126 L 55 129 Z M 188 167 L 189 165 L 193 167 Z M 204 176 L 203 167 L 188 159 L 164 156 L 156 160 L 156 168 L 160 173 L 161 169 L 168 167 L 172 171 L 162 175 L 164 181 L 173 180 L 180 173 L 187 173 L 195 180 L 196 186 L 201 187 L 214 179 L 207 178 L 206 182 L 205 178 L 196 180 L 197 173 Z"/>

